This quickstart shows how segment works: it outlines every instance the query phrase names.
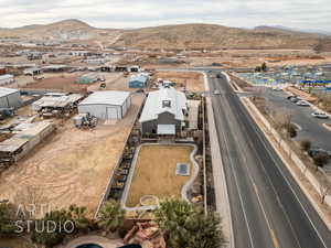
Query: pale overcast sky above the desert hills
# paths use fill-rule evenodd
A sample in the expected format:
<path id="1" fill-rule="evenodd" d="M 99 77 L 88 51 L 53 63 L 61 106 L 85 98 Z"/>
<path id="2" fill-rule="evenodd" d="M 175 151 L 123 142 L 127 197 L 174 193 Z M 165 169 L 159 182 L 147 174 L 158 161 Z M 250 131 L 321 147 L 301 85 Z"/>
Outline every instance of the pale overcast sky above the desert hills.
<path id="1" fill-rule="evenodd" d="M 330 0 L 0 0 L 0 6 L 2 28 L 79 19 L 97 28 L 215 23 L 331 32 Z"/>

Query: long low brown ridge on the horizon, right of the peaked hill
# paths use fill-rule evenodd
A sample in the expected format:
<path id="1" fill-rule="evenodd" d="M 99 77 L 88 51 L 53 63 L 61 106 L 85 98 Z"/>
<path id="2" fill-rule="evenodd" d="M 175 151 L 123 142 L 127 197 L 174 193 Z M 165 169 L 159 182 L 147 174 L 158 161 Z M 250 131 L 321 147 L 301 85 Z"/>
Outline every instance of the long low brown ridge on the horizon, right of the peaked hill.
<path id="1" fill-rule="evenodd" d="M 322 35 L 259 26 L 254 30 L 215 24 L 181 24 L 125 30 L 116 44 L 154 48 L 310 48 Z"/>

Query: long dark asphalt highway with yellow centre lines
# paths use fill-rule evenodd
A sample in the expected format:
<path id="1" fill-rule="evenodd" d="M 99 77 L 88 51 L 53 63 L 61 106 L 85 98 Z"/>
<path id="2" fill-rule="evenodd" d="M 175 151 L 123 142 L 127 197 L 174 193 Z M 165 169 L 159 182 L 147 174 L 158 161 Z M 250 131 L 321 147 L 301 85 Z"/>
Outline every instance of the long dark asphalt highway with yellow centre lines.
<path id="1" fill-rule="evenodd" d="M 225 77 L 210 77 L 236 248 L 328 248 L 331 234 Z M 221 164 L 220 164 L 221 166 Z"/>

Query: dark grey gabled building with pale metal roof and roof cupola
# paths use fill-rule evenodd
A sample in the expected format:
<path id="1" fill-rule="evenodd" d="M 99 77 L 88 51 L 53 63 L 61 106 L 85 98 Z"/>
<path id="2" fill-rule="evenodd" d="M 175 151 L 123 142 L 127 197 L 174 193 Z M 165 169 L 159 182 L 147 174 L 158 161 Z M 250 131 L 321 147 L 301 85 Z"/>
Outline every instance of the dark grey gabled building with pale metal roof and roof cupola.
<path id="1" fill-rule="evenodd" d="M 139 122 L 142 133 L 175 136 L 185 126 L 188 112 L 184 93 L 172 87 L 151 91 L 143 106 Z"/>

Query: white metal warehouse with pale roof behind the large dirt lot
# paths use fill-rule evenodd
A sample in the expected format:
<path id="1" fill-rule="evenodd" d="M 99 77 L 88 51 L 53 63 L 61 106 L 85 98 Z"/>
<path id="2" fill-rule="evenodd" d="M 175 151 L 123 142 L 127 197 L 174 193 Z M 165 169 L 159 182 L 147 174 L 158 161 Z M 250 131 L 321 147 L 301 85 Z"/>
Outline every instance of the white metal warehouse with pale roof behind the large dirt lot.
<path id="1" fill-rule="evenodd" d="M 88 112 L 98 119 L 122 119 L 131 106 L 130 93 L 95 91 L 78 104 L 78 112 Z"/>

